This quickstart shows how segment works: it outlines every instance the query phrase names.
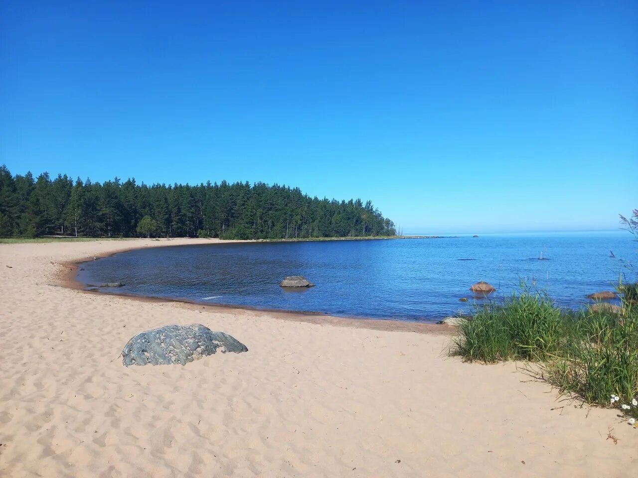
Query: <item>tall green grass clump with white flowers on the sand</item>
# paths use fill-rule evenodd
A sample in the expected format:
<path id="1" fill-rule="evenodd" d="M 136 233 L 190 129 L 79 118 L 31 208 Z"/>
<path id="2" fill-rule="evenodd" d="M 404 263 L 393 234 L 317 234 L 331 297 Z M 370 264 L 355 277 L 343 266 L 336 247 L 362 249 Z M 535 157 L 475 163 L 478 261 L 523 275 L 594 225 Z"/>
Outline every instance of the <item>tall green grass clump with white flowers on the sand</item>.
<path id="1" fill-rule="evenodd" d="M 524 291 L 489 305 L 459 326 L 452 354 L 469 361 L 538 362 L 539 376 L 565 395 L 621 410 L 638 419 L 638 305 L 623 298 L 619 312 L 555 307 Z M 613 397 L 618 397 L 614 400 Z"/>

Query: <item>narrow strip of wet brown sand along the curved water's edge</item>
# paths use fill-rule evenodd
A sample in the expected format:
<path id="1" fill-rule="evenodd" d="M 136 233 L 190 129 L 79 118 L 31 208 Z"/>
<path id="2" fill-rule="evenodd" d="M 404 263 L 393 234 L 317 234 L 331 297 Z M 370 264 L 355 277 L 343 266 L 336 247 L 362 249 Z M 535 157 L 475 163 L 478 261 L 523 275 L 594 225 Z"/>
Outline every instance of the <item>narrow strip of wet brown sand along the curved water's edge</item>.
<path id="1" fill-rule="evenodd" d="M 373 238 L 373 239 L 378 239 L 378 238 Z M 384 239 L 391 239 L 391 238 L 384 238 Z M 210 241 L 211 239 L 202 238 L 201 240 Z M 341 239 L 338 239 L 338 240 L 341 240 Z M 351 240 L 351 239 L 347 239 L 347 240 Z M 352 240 L 358 240 L 358 239 L 352 239 Z M 152 240 L 152 241 L 156 242 L 155 240 Z M 61 271 L 61 274 L 59 276 L 59 285 L 62 287 L 66 287 L 68 289 L 73 289 L 73 290 L 80 291 L 82 293 L 87 293 L 87 294 L 115 296 L 120 298 L 126 298 L 129 300 L 138 300 L 138 301 L 149 302 L 149 303 L 175 303 L 183 307 L 188 307 L 190 310 L 194 310 L 197 308 L 202 308 L 204 310 L 209 310 L 209 311 L 249 310 L 249 311 L 253 311 L 257 313 L 269 314 L 271 317 L 275 317 L 281 320 L 306 322 L 309 324 L 325 324 L 330 326 L 363 328 L 368 330 L 383 330 L 383 331 L 396 330 L 401 332 L 430 333 L 430 334 L 438 334 L 438 335 L 454 335 L 454 333 L 456 333 L 456 330 L 457 330 L 456 326 L 449 325 L 449 324 L 436 324 L 434 322 L 415 322 L 415 321 L 407 321 L 402 319 L 375 319 L 373 317 L 339 317 L 336 315 L 325 314 L 323 312 L 304 312 L 304 311 L 297 311 L 297 310 L 283 310 L 278 308 L 260 308 L 260 307 L 244 306 L 244 305 L 204 303 L 197 300 L 189 300 L 189 299 L 183 299 L 183 298 L 168 298 L 168 297 L 158 297 L 158 296 L 145 296 L 145 295 L 132 294 L 132 293 L 105 292 L 105 291 L 100 291 L 99 289 L 95 289 L 95 290 L 87 289 L 86 284 L 77 280 L 77 273 L 78 273 L 78 268 L 80 267 L 80 264 L 91 262 L 94 260 L 93 259 L 94 257 L 98 257 L 98 260 L 99 260 L 105 257 L 115 256 L 115 254 L 120 254 L 122 252 L 145 249 L 146 247 L 180 247 L 180 246 L 188 246 L 188 245 L 221 245 L 221 244 L 230 244 L 230 243 L 263 242 L 259 240 L 216 240 L 216 242 L 201 243 L 201 244 L 200 243 L 171 244 L 168 241 L 170 240 L 166 240 L 166 242 L 161 242 L 161 244 L 158 244 L 158 245 L 154 245 L 154 244 L 150 246 L 136 245 L 132 247 L 119 248 L 119 249 L 109 251 L 106 254 L 101 254 L 99 257 L 85 256 L 85 257 L 80 257 L 77 259 L 71 259 L 69 261 L 64 261 L 60 263 L 60 265 L 64 267 L 64 270 Z M 290 240 L 285 242 L 290 242 Z M 432 320 L 434 321 L 436 319 L 432 319 Z"/>

